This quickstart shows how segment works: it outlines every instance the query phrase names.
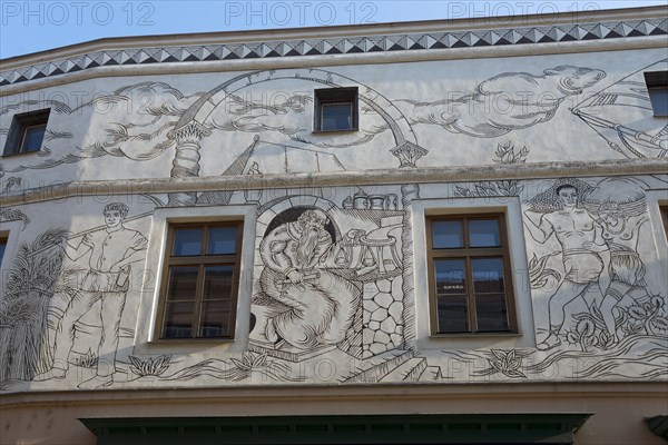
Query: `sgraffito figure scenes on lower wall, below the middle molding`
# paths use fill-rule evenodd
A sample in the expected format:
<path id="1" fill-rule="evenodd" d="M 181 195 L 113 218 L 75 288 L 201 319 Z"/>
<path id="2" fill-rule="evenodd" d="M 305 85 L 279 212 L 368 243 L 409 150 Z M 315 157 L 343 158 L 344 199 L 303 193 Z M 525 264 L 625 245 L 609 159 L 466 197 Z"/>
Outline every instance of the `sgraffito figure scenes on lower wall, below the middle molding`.
<path id="1" fill-rule="evenodd" d="M 48 229 L 17 254 L 0 307 L 3 388 L 666 377 L 666 284 L 646 195 L 666 180 L 519 181 L 531 300 L 515 304 L 531 305 L 537 345 L 489 349 L 414 347 L 412 288 L 425 278 L 406 274 L 403 241 L 424 228 L 406 225 L 402 186 L 234 191 L 232 204 L 259 210 L 250 333 L 245 352 L 208 357 L 137 352 L 146 320 L 132 308 L 156 285 L 141 273 L 159 266 L 143 235 L 153 202 L 89 202 L 97 225 Z"/>

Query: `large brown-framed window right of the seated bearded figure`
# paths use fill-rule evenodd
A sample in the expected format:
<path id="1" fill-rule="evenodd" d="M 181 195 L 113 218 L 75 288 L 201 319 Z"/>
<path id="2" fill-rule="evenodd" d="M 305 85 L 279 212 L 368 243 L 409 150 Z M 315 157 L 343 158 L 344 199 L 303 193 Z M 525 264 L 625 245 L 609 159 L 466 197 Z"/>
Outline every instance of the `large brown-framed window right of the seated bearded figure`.
<path id="1" fill-rule="evenodd" d="M 426 224 L 432 334 L 517 333 L 503 215 Z"/>

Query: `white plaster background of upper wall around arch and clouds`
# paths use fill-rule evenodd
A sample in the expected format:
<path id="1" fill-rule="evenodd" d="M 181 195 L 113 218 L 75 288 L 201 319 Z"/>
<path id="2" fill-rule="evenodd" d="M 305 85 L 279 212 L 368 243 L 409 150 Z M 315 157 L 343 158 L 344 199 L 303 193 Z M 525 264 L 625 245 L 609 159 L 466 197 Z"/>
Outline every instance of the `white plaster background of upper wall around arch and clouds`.
<path id="1" fill-rule="evenodd" d="M 612 150 L 608 141 L 574 116 L 571 109 L 591 95 L 619 82 L 633 72 L 639 73 L 631 80 L 640 82 L 638 88 L 640 95 L 644 95 L 641 71 L 666 69 L 665 62 L 655 65 L 662 59 L 665 59 L 665 51 L 661 49 L 644 49 L 580 55 L 532 55 L 495 59 L 355 65 L 325 67 L 317 70 L 330 71 L 341 86 L 358 86 L 362 95 L 376 98 L 376 102 L 386 110 L 396 107 L 396 112 L 403 113 L 407 122 L 411 122 L 412 134 L 405 136 L 429 150 L 426 156 L 418 160 L 418 166 L 462 166 L 493 164 L 497 147 L 508 142 L 514 145 L 518 150 L 527 147 L 528 162 L 623 158 L 625 155 Z M 557 85 L 560 80 L 564 80 L 562 76 L 548 76 L 543 79 L 546 70 L 563 66 L 600 70 L 606 77 L 584 88 L 581 93 L 563 95 Z M 308 69 L 297 71 L 310 72 Z M 229 88 L 230 92 L 255 105 L 250 113 L 247 112 L 248 108 L 244 108 L 248 103 L 229 97 L 223 100 L 220 95 L 216 96 L 216 100 L 219 100 L 216 102 L 217 107 L 209 106 L 213 113 L 204 123 L 216 125 L 219 128 L 213 129 L 210 136 L 200 140 L 199 176 L 222 175 L 232 160 L 253 142 L 253 137 L 256 135 L 265 146 L 254 155 L 263 172 L 356 170 L 399 166 L 397 160 L 389 154 L 395 145 L 391 132 L 384 130 L 374 136 L 379 130 L 377 127 L 385 125 L 375 112 L 363 110 L 360 119 L 361 130 L 354 134 L 313 135 L 311 132 L 312 102 L 299 107 L 294 96 L 311 96 L 313 89 L 321 88 L 323 85 L 303 78 L 295 79 L 294 75 L 297 71 L 275 70 L 269 76 L 273 80 L 253 86 L 245 86 L 243 80 L 233 83 Z M 267 77 L 266 72 L 258 76 Z M 584 78 L 591 78 L 592 72 L 599 71 L 578 75 L 579 80 L 574 80 L 576 87 Z M 509 73 L 515 75 L 508 77 Z M 86 180 L 169 177 L 175 145 L 169 144 L 168 135 L 169 130 L 174 129 L 178 116 L 200 95 L 238 75 L 242 73 L 117 76 L 3 96 L 0 99 L 2 106 L 0 146 L 2 147 L 11 117 L 16 112 L 45 107 L 52 109 L 48 126 L 51 136 L 45 142 L 45 150 L 39 154 L 3 158 L 1 160 L 4 172 L 3 185 L 7 185 L 11 177 L 21 178 L 22 188 L 69 181 L 75 178 Z M 419 103 L 455 99 L 466 101 L 462 97 L 474 92 L 484 80 L 500 75 L 503 76 L 501 80 L 508 77 L 508 80 L 503 80 L 505 83 L 501 82 L 499 87 L 494 87 L 500 88 L 500 91 L 497 91 L 497 95 L 488 95 L 489 97 L 485 96 L 478 102 L 468 102 L 465 106 L 456 101 L 433 105 L 431 108 L 426 107 L 429 112 L 425 112 L 425 107 L 415 108 L 414 105 L 402 101 L 411 100 Z M 518 105 L 509 106 L 507 102 L 509 97 L 520 101 L 533 101 L 542 97 L 546 102 L 543 102 L 544 107 L 539 107 L 541 111 L 539 116 L 542 116 L 546 121 L 523 129 L 510 129 L 503 135 L 491 134 L 488 135 L 489 137 L 480 137 L 466 127 L 466 122 L 479 121 L 501 120 L 512 128 L 521 127 L 527 121 L 531 122 L 532 119 L 519 115 L 524 111 L 537 111 L 537 108 L 527 103 L 523 106 L 525 109 Z M 293 98 L 292 101 L 282 110 L 276 111 L 271 108 L 286 102 L 289 98 Z M 551 98 L 559 99 L 560 102 L 557 105 L 550 101 Z M 63 103 L 65 107 L 49 101 Z M 548 110 L 554 112 L 549 119 Z M 429 116 L 435 123 L 419 122 L 421 118 L 423 121 L 431 119 Z M 650 134 L 665 126 L 664 119 L 651 118 L 651 113 L 646 109 L 623 107 L 623 116 L 632 127 L 635 126 L 633 128 Z M 618 116 L 611 112 L 610 117 Z M 253 119 L 238 121 L 238 118 Z M 462 122 L 464 127 L 462 131 L 465 132 L 452 126 L 449 129 L 441 126 L 452 119 Z M 148 125 L 153 120 L 156 122 Z M 230 127 L 232 121 L 236 121 L 236 127 Z M 257 125 L 265 127 L 261 128 Z M 458 126 L 459 123 L 455 123 L 454 127 Z M 278 130 L 279 128 L 283 129 Z M 144 136 L 140 140 L 130 138 L 122 144 L 116 144 L 116 138 L 121 137 L 124 131 L 130 136 Z M 469 135 L 471 131 L 473 136 Z M 371 139 L 361 139 L 364 137 Z M 96 144 L 97 149 L 94 149 Z M 164 147 L 166 144 L 167 147 Z M 267 148 L 267 144 L 296 147 L 291 149 L 288 167 L 283 165 L 285 156 L 277 152 L 277 148 Z M 104 149 L 100 150 L 102 147 Z M 321 157 L 320 162 L 314 161 L 314 151 L 304 150 L 316 151 Z M 307 152 L 310 155 L 306 155 Z M 652 157 L 652 154 L 659 156 L 659 152 L 660 150 L 650 149 L 648 156 Z M 88 157 L 92 158 L 86 159 Z M 279 162 L 274 164 L 274 160 Z M 43 168 L 51 165 L 52 168 Z M 36 169 L 38 166 L 41 168 Z"/>

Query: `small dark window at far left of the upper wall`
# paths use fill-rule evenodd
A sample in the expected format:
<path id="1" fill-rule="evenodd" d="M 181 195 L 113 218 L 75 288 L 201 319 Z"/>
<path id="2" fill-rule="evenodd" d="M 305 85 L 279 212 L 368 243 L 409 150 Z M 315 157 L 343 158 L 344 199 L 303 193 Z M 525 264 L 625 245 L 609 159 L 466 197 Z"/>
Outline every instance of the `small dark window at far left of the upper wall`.
<path id="1" fill-rule="evenodd" d="M 39 151 L 45 140 L 50 112 L 50 109 L 45 109 L 14 115 L 7 136 L 3 155 Z"/>

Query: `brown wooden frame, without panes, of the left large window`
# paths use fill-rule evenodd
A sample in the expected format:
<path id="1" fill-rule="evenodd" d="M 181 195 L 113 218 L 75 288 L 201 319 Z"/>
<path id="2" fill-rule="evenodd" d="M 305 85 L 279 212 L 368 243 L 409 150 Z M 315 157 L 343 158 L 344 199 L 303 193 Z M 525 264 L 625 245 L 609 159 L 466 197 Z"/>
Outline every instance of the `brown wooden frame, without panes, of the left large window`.
<path id="1" fill-rule="evenodd" d="M 235 238 L 235 253 L 226 255 L 206 255 L 206 246 L 208 246 L 208 235 L 212 228 L 219 227 L 236 227 Z M 183 228 L 202 228 L 204 230 L 200 244 L 200 253 L 195 256 L 174 256 L 174 240 L 177 229 Z M 165 260 L 163 266 L 163 278 L 160 283 L 160 294 L 158 304 L 158 317 L 157 317 L 157 335 L 156 338 L 161 342 L 220 342 L 220 340 L 233 340 L 236 327 L 236 312 L 237 301 L 239 295 L 239 274 L 242 265 L 242 247 L 244 237 L 244 221 L 243 220 L 225 220 L 225 221 L 197 221 L 197 222 L 174 222 L 168 225 L 167 231 L 167 244 L 165 248 Z M 228 334 L 218 337 L 204 337 L 198 336 L 202 330 L 202 324 L 204 318 L 204 267 L 214 265 L 228 265 L 234 264 L 233 276 L 232 276 L 232 295 L 229 300 L 229 318 L 228 318 Z M 169 268 L 171 266 L 198 266 L 197 283 L 195 290 L 195 303 L 193 309 L 193 324 L 190 337 L 165 337 L 165 320 L 167 309 L 167 288 L 169 285 Z"/>

